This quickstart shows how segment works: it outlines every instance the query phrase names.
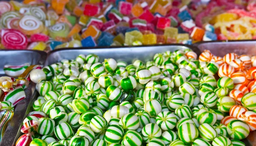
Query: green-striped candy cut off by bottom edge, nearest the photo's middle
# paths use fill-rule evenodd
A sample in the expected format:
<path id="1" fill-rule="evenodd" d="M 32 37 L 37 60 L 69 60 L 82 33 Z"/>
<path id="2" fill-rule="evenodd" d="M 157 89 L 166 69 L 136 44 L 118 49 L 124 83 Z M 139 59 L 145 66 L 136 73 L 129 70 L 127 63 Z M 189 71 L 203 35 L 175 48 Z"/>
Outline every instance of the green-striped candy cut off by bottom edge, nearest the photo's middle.
<path id="1" fill-rule="evenodd" d="M 141 146 L 142 136 L 139 132 L 135 130 L 128 130 L 122 140 L 122 145 L 124 146 Z"/>

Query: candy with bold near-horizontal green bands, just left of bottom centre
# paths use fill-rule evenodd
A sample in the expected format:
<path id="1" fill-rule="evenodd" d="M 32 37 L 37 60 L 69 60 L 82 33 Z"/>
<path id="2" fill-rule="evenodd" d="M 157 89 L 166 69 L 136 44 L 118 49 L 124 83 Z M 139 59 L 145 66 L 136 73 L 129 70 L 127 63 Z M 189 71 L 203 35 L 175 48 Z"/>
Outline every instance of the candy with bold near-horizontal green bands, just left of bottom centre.
<path id="1" fill-rule="evenodd" d="M 107 143 L 120 143 L 124 135 L 124 129 L 118 125 L 111 125 L 105 133 L 105 141 Z"/>

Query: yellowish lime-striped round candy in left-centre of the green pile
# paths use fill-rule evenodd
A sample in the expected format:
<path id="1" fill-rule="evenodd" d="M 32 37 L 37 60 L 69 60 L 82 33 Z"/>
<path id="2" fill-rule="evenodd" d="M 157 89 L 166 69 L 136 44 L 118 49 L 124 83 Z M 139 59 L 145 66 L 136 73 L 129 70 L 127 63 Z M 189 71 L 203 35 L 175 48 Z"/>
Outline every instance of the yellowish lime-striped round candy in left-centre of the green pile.
<path id="1" fill-rule="evenodd" d="M 74 99 L 72 101 L 72 107 L 78 114 L 86 112 L 90 108 L 90 102 L 87 98 Z"/>

